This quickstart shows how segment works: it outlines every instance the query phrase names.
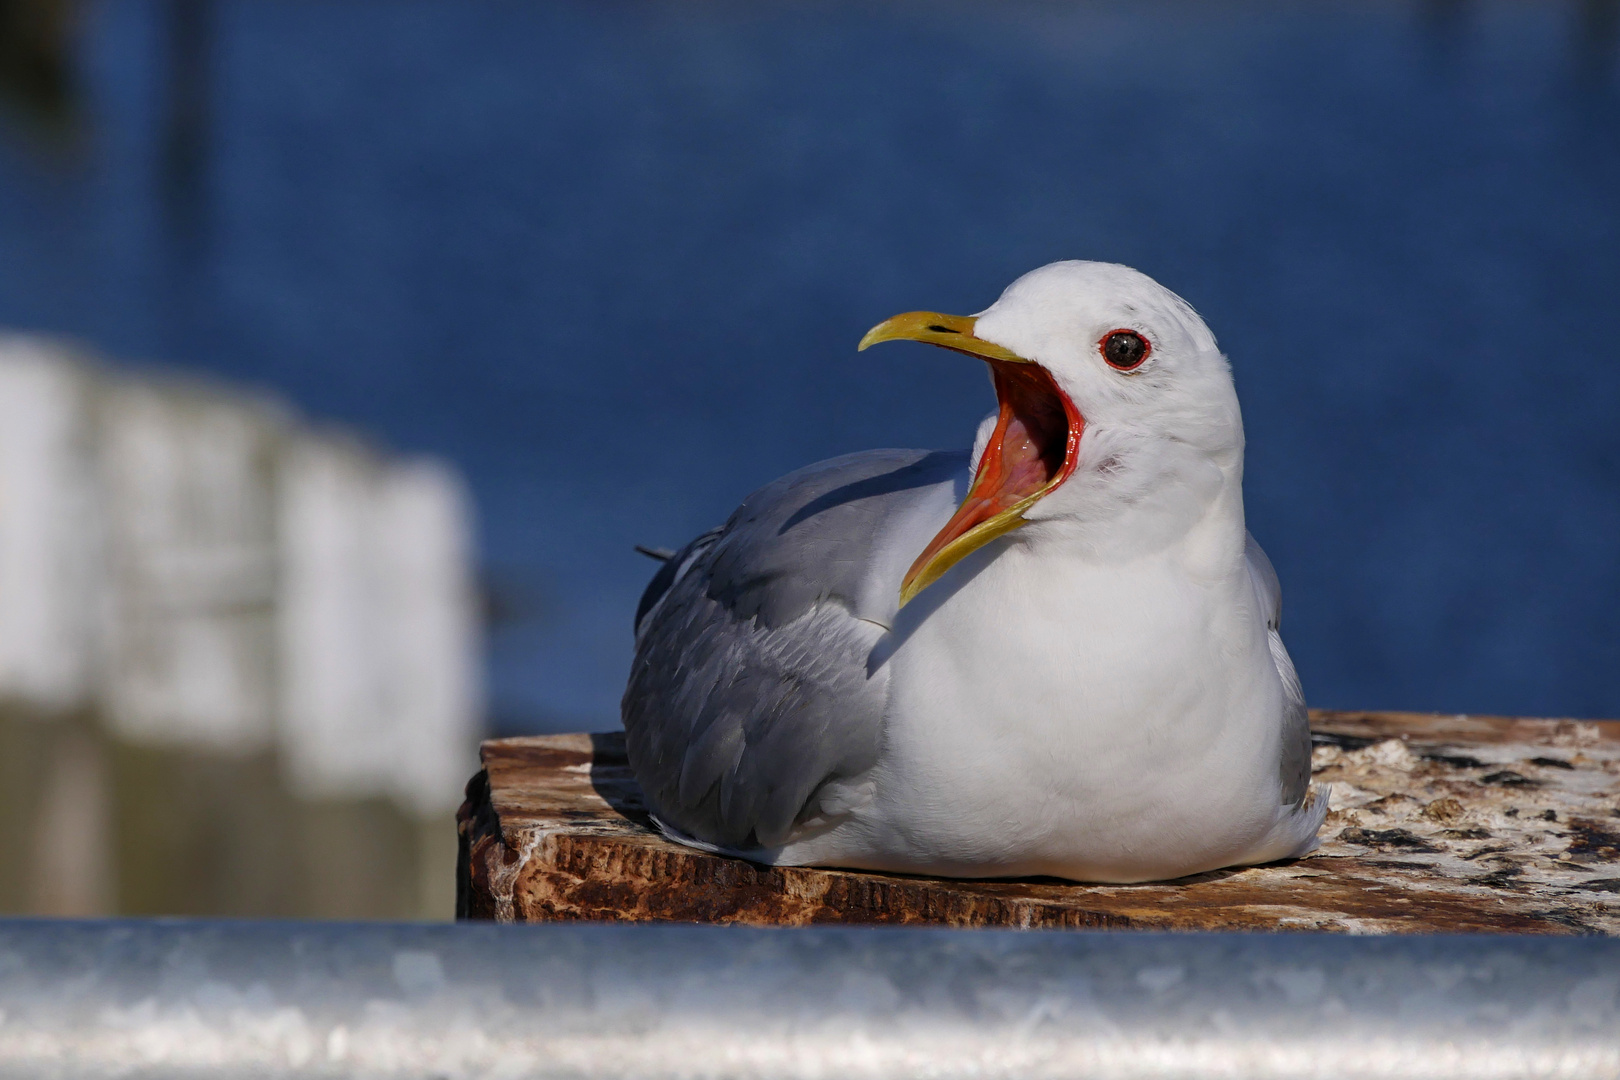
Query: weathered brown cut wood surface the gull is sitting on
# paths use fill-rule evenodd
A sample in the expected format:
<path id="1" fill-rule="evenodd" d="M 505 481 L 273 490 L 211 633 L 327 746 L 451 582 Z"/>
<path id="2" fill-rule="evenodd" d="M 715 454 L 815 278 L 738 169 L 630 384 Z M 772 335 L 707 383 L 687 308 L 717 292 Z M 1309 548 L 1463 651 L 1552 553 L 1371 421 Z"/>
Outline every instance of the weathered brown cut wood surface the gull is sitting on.
<path id="1" fill-rule="evenodd" d="M 1312 712 L 1306 858 L 1173 882 L 758 866 L 661 837 L 620 733 L 497 738 L 460 813 L 462 918 L 1620 934 L 1620 722 Z"/>

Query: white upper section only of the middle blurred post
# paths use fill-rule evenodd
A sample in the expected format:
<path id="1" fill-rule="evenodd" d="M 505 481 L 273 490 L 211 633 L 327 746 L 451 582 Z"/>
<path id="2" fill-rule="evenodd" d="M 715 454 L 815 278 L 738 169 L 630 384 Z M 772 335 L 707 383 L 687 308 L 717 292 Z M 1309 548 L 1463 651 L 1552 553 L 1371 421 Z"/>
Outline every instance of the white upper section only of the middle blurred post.
<path id="1" fill-rule="evenodd" d="M 97 421 L 112 730 L 227 755 L 269 748 L 282 418 L 211 387 L 118 377 Z"/>

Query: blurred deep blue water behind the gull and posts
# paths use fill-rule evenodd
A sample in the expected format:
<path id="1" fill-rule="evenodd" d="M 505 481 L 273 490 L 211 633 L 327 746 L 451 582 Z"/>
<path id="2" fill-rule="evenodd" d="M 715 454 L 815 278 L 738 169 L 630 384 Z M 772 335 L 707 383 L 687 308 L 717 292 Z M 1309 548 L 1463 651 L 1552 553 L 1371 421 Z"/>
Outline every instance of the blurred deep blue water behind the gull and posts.
<path id="1" fill-rule="evenodd" d="M 70 134 L 5 126 L 0 324 L 458 461 L 497 725 L 599 729 L 632 544 L 812 460 L 970 440 L 977 364 L 857 356 L 868 325 L 1128 262 L 1231 355 L 1315 704 L 1620 716 L 1617 23 L 109 0 Z"/>

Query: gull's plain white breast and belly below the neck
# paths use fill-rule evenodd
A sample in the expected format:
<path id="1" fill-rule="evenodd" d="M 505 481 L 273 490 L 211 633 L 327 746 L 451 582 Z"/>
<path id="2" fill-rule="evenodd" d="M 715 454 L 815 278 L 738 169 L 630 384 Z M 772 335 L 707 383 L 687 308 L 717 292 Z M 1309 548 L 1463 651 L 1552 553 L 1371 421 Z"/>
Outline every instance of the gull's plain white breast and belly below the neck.
<path id="1" fill-rule="evenodd" d="M 982 555 L 886 643 L 870 801 L 784 861 L 1090 881 L 1244 861 L 1285 813 L 1281 682 L 1246 573 Z"/>

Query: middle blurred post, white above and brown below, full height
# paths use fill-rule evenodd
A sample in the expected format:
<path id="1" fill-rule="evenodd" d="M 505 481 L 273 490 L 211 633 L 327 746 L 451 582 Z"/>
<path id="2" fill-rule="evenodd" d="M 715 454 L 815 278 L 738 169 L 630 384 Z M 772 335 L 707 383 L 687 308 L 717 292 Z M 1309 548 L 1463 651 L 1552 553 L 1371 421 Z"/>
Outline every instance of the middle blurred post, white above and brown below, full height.
<path id="1" fill-rule="evenodd" d="M 274 405 L 115 376 L 97 410 L 118 910 L 292 915 L 274 756 Z"/>

